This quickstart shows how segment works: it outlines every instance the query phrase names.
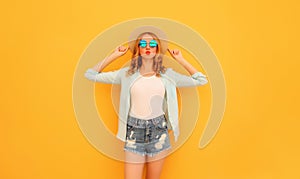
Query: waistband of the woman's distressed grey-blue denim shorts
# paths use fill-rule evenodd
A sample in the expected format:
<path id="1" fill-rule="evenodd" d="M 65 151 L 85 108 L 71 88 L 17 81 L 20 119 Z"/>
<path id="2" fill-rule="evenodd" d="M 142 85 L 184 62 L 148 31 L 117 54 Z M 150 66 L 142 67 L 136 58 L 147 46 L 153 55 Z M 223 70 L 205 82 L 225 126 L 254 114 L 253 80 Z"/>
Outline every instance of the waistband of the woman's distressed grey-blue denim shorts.
<path id="1" fill-rule="evenodd" d="M 164 114 L 162 114 L 158 117 L 152 118 L 152 119 L 139 119 L 139 118 L 132 117 L 129 115 L 127 124 L 138 127 L 138 128 L 146 128 L 146 127 L 150 127 L 153 125 L 156 126 L 157 124 L 162 123 L 165 120 L 166 120 L 166 118 L 165 118 Z"/>

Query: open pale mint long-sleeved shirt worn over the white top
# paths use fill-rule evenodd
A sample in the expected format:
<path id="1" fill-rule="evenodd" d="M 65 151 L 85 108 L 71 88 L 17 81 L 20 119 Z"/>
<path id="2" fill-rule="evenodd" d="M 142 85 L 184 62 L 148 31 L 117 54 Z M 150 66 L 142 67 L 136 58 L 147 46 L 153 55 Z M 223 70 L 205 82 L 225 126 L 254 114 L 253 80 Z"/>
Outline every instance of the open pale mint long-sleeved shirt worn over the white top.
<path id="1" fill-rule="evenodd" d="M 115 71 L 97 72 L 90 68 L 85 72 L 85 77 L 91 81 L 121 85 L 117 138 L 122 141 L 125 141 L 126 138 L 127 117 L 130 110 L 130 88 L 133 82 L 141 76 L 139 71 L 127 76 L 128 69 L 129 67 L 124 67 Z M 172 68 L 167 68 L 165 73 L 161 73 L 161 79 L 166 90 L 163 110 L 167 119 L 167 126 L 168 129 L 173 130 L 174 140 L 177 141 L 179 125 L 176 87 L 199 86 L 206 84 L 208 81 L 201 72 L 187 76 L 175 72 Z"/>

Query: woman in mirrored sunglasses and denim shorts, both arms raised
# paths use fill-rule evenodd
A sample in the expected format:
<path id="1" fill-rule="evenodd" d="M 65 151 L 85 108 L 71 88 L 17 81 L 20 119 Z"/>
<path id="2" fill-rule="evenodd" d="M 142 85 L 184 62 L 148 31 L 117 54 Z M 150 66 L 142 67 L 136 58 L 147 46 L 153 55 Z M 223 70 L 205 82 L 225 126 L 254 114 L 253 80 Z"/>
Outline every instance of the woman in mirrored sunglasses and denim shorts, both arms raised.
<path id="1" fill-rule="evenodd" d="M 95 82 L 121 84 L 117 138 L 125 142 L 125 178 L 142 178 L 145 165 L 148 179 L 159 178 L 164 156 L 171 148 L 168 129 L 173 130 L 175 141 L 179 136 L 176 87 L 204 85 L 207 79 L 177 49 L 167 50 L 191 76 L 165 68 L 161 41 L 152 32 L 138 35 L 131 48 L 129 67 L 101 72 L 129 49 L 119 46 L 88 69 L 85 77 Z"/>

